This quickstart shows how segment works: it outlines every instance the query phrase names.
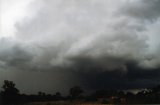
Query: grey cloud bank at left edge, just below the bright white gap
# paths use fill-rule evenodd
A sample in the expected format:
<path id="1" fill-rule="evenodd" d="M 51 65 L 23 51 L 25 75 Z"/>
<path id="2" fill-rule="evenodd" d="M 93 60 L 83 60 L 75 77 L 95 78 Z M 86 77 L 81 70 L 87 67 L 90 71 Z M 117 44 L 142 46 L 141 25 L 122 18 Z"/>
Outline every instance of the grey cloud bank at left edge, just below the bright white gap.
<path id="1" fill-rule="evenodd" d="M 0 48 L 1 67 L 12 69 L 29 67 L 32 54 L 26 50 L 24 45 L 11 39 L 2 38 Z"/>

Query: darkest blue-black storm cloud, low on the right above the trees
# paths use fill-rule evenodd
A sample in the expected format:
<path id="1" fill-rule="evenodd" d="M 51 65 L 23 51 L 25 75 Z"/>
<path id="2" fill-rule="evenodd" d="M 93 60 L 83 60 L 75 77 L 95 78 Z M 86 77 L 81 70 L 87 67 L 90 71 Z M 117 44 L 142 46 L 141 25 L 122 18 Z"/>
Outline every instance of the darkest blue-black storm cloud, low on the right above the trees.
<path id="1" fill-rule="evenodd" d="M 127 65 L 128 71 L 79 73 L 81 82 L 89 89 L 133 89 L 146 88 L 159 84 L 159 69 L 145 70 L 134 64 Z M 97 68 L 100 69 L 100 68 Z"/>

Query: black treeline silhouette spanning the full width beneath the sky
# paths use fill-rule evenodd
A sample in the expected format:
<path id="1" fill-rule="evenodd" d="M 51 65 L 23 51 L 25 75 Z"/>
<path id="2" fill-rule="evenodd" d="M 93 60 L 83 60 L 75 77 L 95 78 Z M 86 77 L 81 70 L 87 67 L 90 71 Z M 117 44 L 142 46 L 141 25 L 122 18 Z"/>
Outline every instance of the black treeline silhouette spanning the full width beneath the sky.
<path id="1" fill-rule="evenodd" d="M 46 101 L 83 101 L 83 102 L 99 102 L 103 104 L 157 104 L 160 103 L 160 85 L 153 88 L 147 88 L 139 91 L 137 94 L 132 92 L 118 91 L 112 89 L 97 90 L 90 95 L 85 93 L 81 87 L 75 86 L 69 90 L 68 96 L 62 96 L 60 92 L 55 94 L 46 94 L 38 92 L 37 94 L 22 94 L 16 88 L 13 81 L 5 80 L 0 91 L 1 104 L 20 104 L 30 102 L 46 102 Z"/>

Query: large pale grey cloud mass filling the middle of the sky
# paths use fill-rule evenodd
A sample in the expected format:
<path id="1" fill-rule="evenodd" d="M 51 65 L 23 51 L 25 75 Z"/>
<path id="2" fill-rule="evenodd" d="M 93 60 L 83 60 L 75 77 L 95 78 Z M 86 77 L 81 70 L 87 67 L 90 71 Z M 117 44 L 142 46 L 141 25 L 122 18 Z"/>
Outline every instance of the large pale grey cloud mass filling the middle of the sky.
<path id="1" fill-rule="evenodd" d="M 141 62 L 146 56 L 149 47 L 148 36 L 143 35 L 146 26 L 138 19 L 127 17 L 127 13 L 124 15 L 123 9 L 118 10 L 123 2 L 48 0 L 42 3 L 44 6 L 35 18 L 17 23 L 17 37 L 32 43 L 31 46 L 38 50 L 35 62 L 47 66 L 72 66 L 78 58 L 88 58 L 95 62 L 93 65 L 114 70 L 126 69 L 128 61 Z M 111 7 L 113 3 L 115 5 Z M 153 3 L 147 2 L 144 8 L 150 10 L 150 5 Z M 123 8 L 130 13 L 131 8 Z M 117 17 L 117 12 L 126 17 Z"/>

